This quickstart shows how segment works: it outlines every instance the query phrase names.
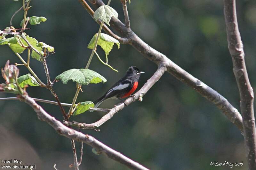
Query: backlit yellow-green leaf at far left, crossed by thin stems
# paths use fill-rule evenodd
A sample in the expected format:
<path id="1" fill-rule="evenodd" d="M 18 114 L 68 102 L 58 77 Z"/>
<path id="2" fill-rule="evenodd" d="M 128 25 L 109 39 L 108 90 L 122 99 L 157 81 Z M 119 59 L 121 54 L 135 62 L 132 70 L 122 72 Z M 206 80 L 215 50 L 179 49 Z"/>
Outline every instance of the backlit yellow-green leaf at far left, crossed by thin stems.
<path id="1" fill-rule="evenodd" d="M 42 47 L 37 47 L 36 45 L 38 44 L 38 41 L 33 38 L 33 37 L 29 37 L 28 35 L 26 36 L 26 39 L 28 40 L 28 42 L 34 47 L 36 48 L 36 50 L 43 55 L 43 48 Z M 20 37 L 21 42 L 25 45 L 28 46 L 27 42 L 24 41 L 21 37 Z M 24 47 L 21 47 L 19 43 L 17 44 L 11 44 L 10 48 L 12 48 L 12 51 L 15 53 L 23 53 L 23 51 L 26 49 Z M 35 58 L 36 60 L 40 61 L 41 56 L 39 54 L 37 54 L 34 50 L 31 53 L 31 57 Z"/>

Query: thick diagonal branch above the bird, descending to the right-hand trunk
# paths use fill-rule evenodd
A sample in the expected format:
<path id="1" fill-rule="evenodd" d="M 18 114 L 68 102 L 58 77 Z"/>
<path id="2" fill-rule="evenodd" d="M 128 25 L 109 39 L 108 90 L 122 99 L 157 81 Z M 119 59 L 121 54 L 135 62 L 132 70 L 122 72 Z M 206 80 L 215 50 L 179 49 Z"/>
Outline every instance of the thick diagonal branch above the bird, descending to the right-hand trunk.
<path id="1" fill-rule="evenodd" d="M 88 1 L 94 4 L 97 8 L 101 5 L 104 5 L 104 3 L 101 0 Z M 120 33 L 122 37 L 127 38 L 129 40 L 129 44 L 131 44 L 137 51 L 139 51 L 141 55 L 145 56 L 157 65 L 163 64 L 164 66 L 166 66 L 167 71 L 170 74 L 172 74 L 178 80 L 195 89 L 196 92 L 198 92 L 207 100 L 216 105 L 216 107 L 218 107 L 223 112 L 223 114 L 225 114 L 228 117 L 230 122 L 234 123 L 237 126 L 237 128 L 243 132 L 242 116 L 237 111 L 237 109 L 228 102 L 227 99 L 225 99 L 223 96 L 221 96 L 218 92 L 213 90 L 208 85 L 204 84 L 202 81 L 193 77 L 187 71 L 180 68 L 177 64 L 173 63 L 164 54 L 150 47 L 148 44 L 142 41 L 132 30 L 128 32 L 126 26 L 119 19 L 112 17 L 110 25 L 114 29 L 116 29 L 116 31 Z"/>

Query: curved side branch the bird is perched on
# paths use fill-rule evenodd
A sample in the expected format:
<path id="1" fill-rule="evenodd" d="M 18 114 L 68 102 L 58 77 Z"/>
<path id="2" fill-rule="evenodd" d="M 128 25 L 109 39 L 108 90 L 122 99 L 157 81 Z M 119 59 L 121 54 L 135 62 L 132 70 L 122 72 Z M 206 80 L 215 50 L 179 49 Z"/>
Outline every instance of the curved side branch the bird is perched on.
<path id="1" fill-rule="evenodd" d="M 111 119 L 113 115 L 117 113 L 119 110 L 122 110 L 125 106 L 128 106 L 129 104 L 131 104 L 132 102 L 134 102 L 139 98 L 142 99 L 142 97 L 148 92 L 148 90 L 163 76 L 165 71 L 166 71 L 166 67 L 164 65 L 160 65 L 156 70 L 156 72 L 154 73 L 154 75 L 148 79 L 147 83 L 145 83 L 138 92 L 132 95 L 132 97 L 126 99 L 124 103 L 115 105 L 115 107 L 110 109 L 108 114 L 104 115 L 99 121 L 95 123 L 90 123 L 90 124 L 64 121 L 64 124 L 80 127 L 82 129 L 92 129 L 95 127 L 100 127 L 100 125 L 102 125 L 103 123 Z"/>

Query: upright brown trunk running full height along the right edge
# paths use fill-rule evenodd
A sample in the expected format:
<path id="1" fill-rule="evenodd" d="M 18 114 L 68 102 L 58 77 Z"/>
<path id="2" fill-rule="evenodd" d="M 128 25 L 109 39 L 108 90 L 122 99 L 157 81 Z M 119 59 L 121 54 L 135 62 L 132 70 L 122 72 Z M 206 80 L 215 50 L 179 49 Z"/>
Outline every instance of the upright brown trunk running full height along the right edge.
<path id="1" fill-rule="evenodd" d="M 254 170 L 256 169 L 256 129 L 253 110 L 254 95 L 245 66 L 243 42 L 238 29 L 235 0 L 224 0 L 224 14 L 228 49 L 232 57 L 233 71 L 240 92 L 245 151 L 249 169 Z"/>

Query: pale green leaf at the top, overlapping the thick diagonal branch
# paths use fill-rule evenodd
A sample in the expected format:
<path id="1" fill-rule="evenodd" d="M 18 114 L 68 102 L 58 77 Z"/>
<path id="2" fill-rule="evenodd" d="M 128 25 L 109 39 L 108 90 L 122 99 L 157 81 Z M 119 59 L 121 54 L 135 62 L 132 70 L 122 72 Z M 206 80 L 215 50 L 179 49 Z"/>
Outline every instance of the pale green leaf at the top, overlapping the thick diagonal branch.
<path id="1" fill-rule="evenodd" d="M 110 19 L 113 17 L 117 18 L 118 13 L 116 10 L 108 5 L 102 5 L 100 6 L 95 12 L 93 17 L 98 20 L 101 19 L 101 21 L 105 22 L 109 25 Z M 110 25 L 109 25 L 110 26 Z"/>

